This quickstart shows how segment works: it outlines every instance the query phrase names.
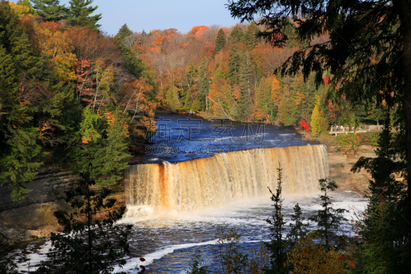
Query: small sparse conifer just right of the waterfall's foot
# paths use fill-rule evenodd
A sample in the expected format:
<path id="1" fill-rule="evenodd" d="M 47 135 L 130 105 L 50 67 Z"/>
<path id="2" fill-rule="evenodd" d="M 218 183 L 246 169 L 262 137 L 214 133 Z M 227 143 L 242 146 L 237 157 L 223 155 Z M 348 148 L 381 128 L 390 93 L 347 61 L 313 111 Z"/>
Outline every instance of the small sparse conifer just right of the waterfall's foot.
<path id="1" fill-rule="evenodd" d="M 328 193 L 338 189 L 338 185 L 335 184 L 334 181 L 320 179 L 319 184 L 321 192 L 324 192 L 324 195 L 320 195 L 322 201 L 321 207 L 323 209 L 318 210 L 316 214 L 309 217 L 309 220 L 316 222 L 317 227 L 320 227 L 318 231 L 320 232 L 322 239 L 325 240 L 325 245 L 329 247 L 329 241 L 335 239 L 335 234 L 333 232 L 340 227 L 341 222 L 347 221 L 346 218 L 341 216 L 346 210 L 342 208 L 332 208 Z"/>

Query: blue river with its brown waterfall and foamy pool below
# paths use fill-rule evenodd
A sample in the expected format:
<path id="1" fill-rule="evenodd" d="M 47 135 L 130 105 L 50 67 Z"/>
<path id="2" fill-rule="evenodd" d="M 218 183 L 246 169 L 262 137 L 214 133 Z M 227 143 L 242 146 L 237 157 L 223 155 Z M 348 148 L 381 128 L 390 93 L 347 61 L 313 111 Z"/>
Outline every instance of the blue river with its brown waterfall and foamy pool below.
<path id="1" fill-rule="evenodd" d="M 246 252 L 258 249 L 270 239 L 267 187 L 275 189 L 279 167 L 287 223 L 296 203 L 306 217 L 320 209 L 317 181 L 328 175 L 327 153 L 294 129 L 185 115 L 158 117 L 157 125 L 143 163 L 126 170 L 127 212 L 120 225 L 134 227 L 127 264 L 115 272 L 137 273 L 145 265 L 146 273 L 185 273 L 196 251 L 213 265 L 219 226 L 235 227 Z M 348 219 L 367 203 L 353 192 L 331 196 L 335 208 L 350 210 Z M 342 229 L 350 233 L 348 224 Z M 45 260 L 50 247 L 47 240 L 26 246 L 19 268 L 27 270 L 28 259 L 31 265 Z"/>

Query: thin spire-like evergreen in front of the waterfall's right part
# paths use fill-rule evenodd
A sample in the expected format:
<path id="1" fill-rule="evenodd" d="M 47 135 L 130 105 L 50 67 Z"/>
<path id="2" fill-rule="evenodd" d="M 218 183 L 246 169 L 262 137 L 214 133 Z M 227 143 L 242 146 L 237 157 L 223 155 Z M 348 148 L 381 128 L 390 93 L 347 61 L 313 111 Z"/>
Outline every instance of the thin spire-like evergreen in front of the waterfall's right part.
<path id="1" fill-rule="evenodd" d="M 284 263 L 287 260 L 287 240 L 283 237 L 283 232 L 285 231 L 283 210 L 283 200 L 281 198 L 282 186 L 283 184 L 283 169 L 281 167 L 277 168 L 277 189 L 275 193 L 268 190 L 271 193 L 271 200 L 274 202 L 272 205 L 274 207 L 272 218 L 267 219 L 267 223 L 270 224 L 271 231 L 271 241 L 264 243 L 271 253 L 271 268 L 266 269 L 266 273 L 288 273 L 287 267 Z"/>

